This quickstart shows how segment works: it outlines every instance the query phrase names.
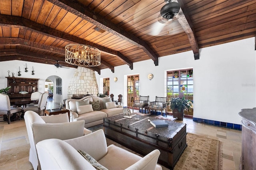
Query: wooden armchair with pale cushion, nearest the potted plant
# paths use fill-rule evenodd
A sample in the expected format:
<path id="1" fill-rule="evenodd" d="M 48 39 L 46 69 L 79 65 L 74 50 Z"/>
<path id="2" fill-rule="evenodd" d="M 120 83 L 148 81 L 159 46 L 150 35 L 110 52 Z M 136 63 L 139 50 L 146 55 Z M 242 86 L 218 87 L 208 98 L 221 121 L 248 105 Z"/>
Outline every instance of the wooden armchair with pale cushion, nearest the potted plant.
<path id="1" fill-rule="evenodd" d="M 165 110 L 166 114 L 166 106 L 167 106 L 167 97 L 157 97 L 156 100 L 150 102 L 150 106 L 148 106 L 148 109 L 151 113 L 152 111 L 161 111 L 161 115 L 163 115 L 163 110 Z"/>

